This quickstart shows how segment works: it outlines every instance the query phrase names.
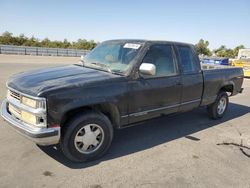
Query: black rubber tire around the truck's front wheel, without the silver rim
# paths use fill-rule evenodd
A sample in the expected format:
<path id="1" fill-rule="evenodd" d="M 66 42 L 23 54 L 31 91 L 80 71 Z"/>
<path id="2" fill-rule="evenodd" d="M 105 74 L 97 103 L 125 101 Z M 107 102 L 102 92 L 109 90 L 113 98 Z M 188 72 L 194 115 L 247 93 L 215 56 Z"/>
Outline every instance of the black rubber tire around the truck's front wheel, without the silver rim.
<path id="1" fill-rule="evenodd" d="M 79 130 L 90 124 L 96 124 L 103 130 L 103 139 L 98 149 L 92 153 L 81 153 L 75 144 L 75 137 Z M 84 133 L 86 134 L 86 133 Z M 73 162 L 85 162 L 100 158 L 109 149 L 113 139 L 113 127 L 110 120 L 99 112 L 85 112 L 77 114 L 68 121 L 62 130 L 60 147 L 63 154 Z M 84 144 L 83 144 L 84 145 Z"/>

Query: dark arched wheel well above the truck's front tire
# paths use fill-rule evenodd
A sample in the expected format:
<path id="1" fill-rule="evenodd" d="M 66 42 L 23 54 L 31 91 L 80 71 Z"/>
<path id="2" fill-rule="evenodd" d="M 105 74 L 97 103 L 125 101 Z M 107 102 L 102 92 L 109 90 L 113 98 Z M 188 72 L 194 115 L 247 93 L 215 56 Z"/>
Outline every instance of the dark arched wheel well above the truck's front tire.
<path id="1" fill-rule="evenodd" d="M 114 127 L 120 126 L 119 110 L 114 104 L 110 104 L 110 103 L 95 104 L 95 105 L 83 106 L 83 107 L 79 107 L 76 109 L 72 109 L 69 112 L 67 112 L 66 114 L 64 114 L 64 116 L 61 120 L 61 126 L 63 126 L 67 121 L 72 119 L 79 112 L 85 112 L 85 111 L 101 112 L 109 118 L 109 120 L 111 121 L 111 123 Z"/>

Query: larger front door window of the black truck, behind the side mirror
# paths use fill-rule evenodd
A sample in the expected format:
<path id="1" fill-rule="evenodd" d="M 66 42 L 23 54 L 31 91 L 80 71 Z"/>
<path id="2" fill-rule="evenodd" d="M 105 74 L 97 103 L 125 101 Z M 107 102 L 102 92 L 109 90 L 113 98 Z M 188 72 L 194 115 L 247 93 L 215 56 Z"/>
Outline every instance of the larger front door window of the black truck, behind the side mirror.
<path id="1" fill-rule="evenodd" d="M 171 45 L 152 45 L 145 55 L 143 62 L 155 65 L 156 75 L 153 77 L 172 76 L 177 74 L 177 63 Z"/>

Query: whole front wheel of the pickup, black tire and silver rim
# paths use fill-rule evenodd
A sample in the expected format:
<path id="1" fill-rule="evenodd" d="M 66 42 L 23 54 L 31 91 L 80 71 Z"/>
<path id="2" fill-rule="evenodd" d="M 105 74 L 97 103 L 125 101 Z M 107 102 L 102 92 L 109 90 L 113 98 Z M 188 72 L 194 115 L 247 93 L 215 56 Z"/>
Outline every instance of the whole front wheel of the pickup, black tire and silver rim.
<path id="1" fill-rule="evenodd" d="M 65 125 L 60 145 L 68 159 L 84 162 L 105 154 L 112 139 L 110 120 L 102 113 L 87 112 L 76 115 Z"/>

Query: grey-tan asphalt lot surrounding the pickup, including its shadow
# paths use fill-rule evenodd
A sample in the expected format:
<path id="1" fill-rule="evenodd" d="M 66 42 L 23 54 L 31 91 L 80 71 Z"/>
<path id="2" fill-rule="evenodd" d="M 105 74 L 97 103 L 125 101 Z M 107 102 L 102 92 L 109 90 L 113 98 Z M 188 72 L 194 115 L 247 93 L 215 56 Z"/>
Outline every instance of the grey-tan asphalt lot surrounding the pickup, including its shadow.
<path id="1" fill-rule="evenodd" d="M 0 102 L 17 72 L 79 58 L 0 55 Z M 53 147 L 38 147 L 0 118 L 0 187 L 250 187 L 250 79 L 230 98 L 221 120 L 206 109 L 115 132 L 108 154 L 74 164 Z"/>

